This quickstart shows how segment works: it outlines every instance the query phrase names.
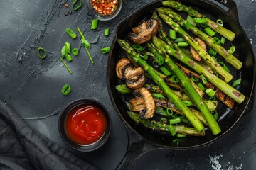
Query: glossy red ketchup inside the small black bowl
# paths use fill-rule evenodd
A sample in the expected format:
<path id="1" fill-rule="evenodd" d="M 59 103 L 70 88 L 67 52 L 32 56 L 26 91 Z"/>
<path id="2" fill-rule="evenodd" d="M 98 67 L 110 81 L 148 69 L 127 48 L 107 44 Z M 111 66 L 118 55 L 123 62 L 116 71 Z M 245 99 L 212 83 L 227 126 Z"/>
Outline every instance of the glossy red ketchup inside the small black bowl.
<path id="1" fill-rule="evenodd" d="M 100 108 L 82 104 L 73 108 L 66 120 L 66 131 L 70 140 L 79 145 L 90 145 L 104 135 L 107 120 Z"/>

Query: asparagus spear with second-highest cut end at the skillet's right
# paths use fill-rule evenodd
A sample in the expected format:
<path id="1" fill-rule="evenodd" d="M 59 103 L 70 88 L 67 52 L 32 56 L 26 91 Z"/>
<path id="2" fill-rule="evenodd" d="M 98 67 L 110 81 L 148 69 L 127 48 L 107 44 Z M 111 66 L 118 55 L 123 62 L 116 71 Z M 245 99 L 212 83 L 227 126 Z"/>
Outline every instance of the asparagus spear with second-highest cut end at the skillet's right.
<path id="1" fill-rule="evenodd" d="M 178 13 L 172 11 L 170 8 L 159 8 L 158 11 L 166 13 L 166 15 L 170 16 L 176 22 L 178 22 L 179 25 L 184 26 L 187 30 L 191 30 L 192 33 L 204 40 L 208 46 L 212 47 L 216 52 L 218 52 L 218 54 L 220 54 L 226 62 L 233 65 L 235 69 L 240 69 L 242 67 L 242 62 L 230 54 L 228 50 L 225 50 L 224 47 L 218 45 L 212 37 L 208 36 L 206 33 L 203 33 L 203 31 L 198 29 L 196 26 L 192 26 L 190 23 L 188 23 L 188 21 L 181 18 Z"/>

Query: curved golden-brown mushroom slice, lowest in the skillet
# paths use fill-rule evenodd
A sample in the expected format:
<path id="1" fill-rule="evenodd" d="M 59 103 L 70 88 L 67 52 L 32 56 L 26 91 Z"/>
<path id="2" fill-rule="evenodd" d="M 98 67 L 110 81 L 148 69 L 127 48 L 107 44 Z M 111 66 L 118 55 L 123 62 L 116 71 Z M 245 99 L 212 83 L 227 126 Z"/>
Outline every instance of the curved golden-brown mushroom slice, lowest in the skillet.
<path id="1" fill-rule="evenodd" d="M 145 101 L 146 110 L 139 113 L 140 118 L 152 118 L 156 110 L 156 104 L 151 93 L 144 87 L 134 90 L 134 94 L 139 94 Z"/>

